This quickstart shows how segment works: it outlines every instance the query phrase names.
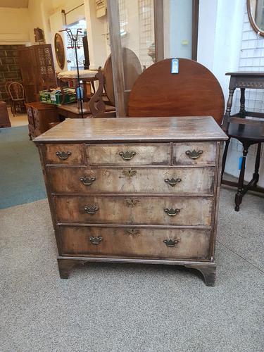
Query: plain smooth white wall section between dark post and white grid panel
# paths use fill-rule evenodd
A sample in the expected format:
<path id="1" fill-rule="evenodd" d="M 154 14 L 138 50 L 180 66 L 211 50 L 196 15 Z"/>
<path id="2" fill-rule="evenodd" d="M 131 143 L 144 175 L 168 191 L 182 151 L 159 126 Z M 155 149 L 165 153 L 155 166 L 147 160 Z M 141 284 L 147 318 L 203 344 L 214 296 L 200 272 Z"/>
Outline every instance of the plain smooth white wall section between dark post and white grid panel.
<path id="1" fill-rule="evenodd" d="M 200 0 L 197 61 L 213 72 L 228 97 L 230 78 L 236 71 L 242 35 L 244 0 Z"/>

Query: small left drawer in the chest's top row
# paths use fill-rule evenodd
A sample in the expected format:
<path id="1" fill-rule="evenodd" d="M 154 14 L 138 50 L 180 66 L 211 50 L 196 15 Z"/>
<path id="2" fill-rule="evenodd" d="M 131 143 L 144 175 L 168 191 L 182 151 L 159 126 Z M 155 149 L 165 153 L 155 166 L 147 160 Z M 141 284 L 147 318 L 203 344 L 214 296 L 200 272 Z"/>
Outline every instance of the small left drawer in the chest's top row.
<path id="1" fill-rule="evenodd" d="M 45 144 L 46 164 L 83 165 L 82 144 Z"/>

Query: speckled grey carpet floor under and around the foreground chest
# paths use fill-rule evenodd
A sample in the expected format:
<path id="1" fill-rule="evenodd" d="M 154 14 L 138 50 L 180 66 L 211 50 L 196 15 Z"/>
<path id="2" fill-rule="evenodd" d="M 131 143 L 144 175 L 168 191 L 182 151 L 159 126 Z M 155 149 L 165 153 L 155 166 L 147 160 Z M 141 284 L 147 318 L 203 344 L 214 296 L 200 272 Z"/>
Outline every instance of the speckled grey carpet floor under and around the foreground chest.
<path id="1" fill-rule="evenodd" d="M 0 351 L 264 351 L 264 199 L 222 189 L 217 281 L 89 264 L 61 280 L 46 200 L 0 210 Z"/>

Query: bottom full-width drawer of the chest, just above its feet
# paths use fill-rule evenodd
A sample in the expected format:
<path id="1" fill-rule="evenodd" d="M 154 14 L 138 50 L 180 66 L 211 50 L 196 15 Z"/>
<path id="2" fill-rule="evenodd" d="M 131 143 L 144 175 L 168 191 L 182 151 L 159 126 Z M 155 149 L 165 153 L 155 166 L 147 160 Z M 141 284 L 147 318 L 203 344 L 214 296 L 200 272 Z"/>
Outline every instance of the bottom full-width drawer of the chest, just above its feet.
<path id="1" fill-rule="evenodd" d="M 61 253 L 68 256 L 120 256 L 208 259 L 210 230 L 143 227 L 61 226 Z"/>

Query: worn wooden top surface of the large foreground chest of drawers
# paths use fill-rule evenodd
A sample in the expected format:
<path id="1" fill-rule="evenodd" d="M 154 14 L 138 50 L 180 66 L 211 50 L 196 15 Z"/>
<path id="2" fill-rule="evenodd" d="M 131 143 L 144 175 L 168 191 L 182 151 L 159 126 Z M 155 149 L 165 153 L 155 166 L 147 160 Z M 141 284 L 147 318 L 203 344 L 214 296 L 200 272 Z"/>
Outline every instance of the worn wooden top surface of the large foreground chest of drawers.
<path id="1" fill-rule="evenodd" d="M 210 116 L 71 119 L 34 139 L 35 143 L 220 141 L 227 136 Z"/>

